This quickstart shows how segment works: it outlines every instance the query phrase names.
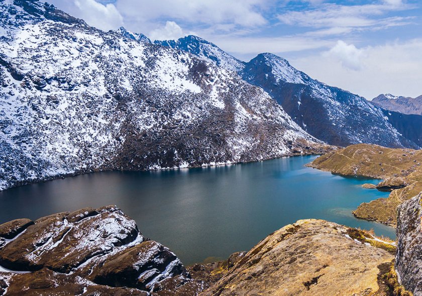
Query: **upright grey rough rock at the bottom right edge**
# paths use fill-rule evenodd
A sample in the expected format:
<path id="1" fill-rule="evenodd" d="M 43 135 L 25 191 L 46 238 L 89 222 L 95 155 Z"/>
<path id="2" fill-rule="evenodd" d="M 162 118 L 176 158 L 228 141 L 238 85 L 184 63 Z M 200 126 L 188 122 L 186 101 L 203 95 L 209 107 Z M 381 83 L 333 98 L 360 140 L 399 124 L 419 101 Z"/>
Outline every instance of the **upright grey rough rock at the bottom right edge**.
<path id="1" fill-rule="evenodd" d="M 397 253 L 395 267 L 401 284 L 414 296 L 422 295 L 422 227 L 419 194 L 397 209 Z"/>

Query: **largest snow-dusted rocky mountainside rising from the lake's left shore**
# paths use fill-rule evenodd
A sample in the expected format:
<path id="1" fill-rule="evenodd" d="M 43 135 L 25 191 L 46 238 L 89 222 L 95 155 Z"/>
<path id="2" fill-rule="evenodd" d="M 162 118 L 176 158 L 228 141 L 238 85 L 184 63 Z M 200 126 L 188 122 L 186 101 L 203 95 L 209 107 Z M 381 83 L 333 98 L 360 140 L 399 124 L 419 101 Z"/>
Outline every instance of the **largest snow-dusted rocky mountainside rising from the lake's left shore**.
<path id="1" fill-rule="evenodd" d="M 261 88 L 186 52 L 97 30 L 36 0 L 0 0 L 0 16 L 0 190 L 318 146 Z"/>

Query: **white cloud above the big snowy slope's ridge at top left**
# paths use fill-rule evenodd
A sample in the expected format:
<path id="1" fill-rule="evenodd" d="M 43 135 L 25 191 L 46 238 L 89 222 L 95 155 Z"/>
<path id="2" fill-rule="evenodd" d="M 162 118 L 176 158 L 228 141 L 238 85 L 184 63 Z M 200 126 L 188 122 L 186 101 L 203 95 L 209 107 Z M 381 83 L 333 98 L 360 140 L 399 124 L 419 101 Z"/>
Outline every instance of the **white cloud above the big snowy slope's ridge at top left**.
<path id="1" fill-rule="evenodd" d="M 64 12 L 83 19 L 88 25 L 108 31 L 123 25 L 123 17 L 113 4 L 102 5 L 95 0 L 50 0 Z"/>

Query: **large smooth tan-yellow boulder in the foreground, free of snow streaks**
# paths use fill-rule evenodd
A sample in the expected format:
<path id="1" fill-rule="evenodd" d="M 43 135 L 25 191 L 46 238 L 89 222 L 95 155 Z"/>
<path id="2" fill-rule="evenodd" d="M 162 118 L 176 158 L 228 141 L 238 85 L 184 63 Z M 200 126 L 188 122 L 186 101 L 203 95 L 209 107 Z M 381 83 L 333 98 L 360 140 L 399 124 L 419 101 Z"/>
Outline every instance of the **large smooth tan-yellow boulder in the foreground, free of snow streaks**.
<path id="1" fill-rule="evenodd" d="M 287 225 L 201 295 L 389 295 L 382 274 L 394 256 L 355 233 L 323 220 Z"/>

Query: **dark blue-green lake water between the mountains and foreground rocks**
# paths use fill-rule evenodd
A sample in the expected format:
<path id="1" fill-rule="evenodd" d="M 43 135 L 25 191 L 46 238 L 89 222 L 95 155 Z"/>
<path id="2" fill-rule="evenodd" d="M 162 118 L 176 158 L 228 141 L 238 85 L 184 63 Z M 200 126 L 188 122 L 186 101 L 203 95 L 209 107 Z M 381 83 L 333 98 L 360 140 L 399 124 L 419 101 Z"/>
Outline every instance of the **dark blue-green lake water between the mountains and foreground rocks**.
<path id="1" fill-rule="evenodd" d="M 23 186 L 0 192 L 0 223 L 116 204 L 145 236 L 168 246 L 185 264 L 249 250 L 269 233 L 307 218 L 374 229 L 377 235 L 395 238 L 393 228 L 351 214 L 362 202 L 388 196 L 361 187 L 377 180 L 303 167 L 314 158 L 94 173 Z"/>

